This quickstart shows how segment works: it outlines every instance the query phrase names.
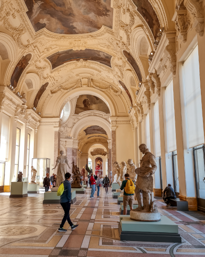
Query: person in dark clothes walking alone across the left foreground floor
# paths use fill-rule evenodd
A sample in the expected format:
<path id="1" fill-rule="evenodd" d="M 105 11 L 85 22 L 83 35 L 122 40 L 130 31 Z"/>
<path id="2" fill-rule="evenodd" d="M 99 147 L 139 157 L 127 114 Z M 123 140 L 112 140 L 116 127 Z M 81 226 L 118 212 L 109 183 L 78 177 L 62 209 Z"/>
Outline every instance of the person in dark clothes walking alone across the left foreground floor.
<path id="1" fill-rule="evenodd" d="M 70 183 L 70 177 L 71 174 L 69 172 L 67 172 L 65 174 L 65 178 L 66 180 L 62 183 L 64 183 L 64 192 L 63 194 L 60 195 L 60 205 L 63 207 L 64 209 L 64 217 L 62 219 L 62 222 L 58 228 L 59 232 L 66 232 L 67 229 L 64 229 L 64 224 L 66 223 L 66 221 L 68 221 L 69 225 L 71 226 L 71 229 L 74 230 L 78 225 L 74 225 L 71 222 L 70 219 L 70 206 L 71 206 L 71 183 Z"/>

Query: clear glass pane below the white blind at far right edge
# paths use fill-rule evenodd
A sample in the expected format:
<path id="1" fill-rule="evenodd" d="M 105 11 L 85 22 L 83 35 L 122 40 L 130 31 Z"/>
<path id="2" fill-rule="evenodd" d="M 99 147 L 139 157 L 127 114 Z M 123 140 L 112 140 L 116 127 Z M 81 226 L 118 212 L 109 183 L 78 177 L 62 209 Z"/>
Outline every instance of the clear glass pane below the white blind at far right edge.
<path id="1" fill-rule="evenodd" d="M 196 178 L 197 178 L 197 197 L 205 199 L 205 174 L 204 174 L 204 160 L 203 149 L 194 151 L 195 153 L 195 166 L 196 166 Z M 203 181 L 204 180 L 204 181 Z"/>

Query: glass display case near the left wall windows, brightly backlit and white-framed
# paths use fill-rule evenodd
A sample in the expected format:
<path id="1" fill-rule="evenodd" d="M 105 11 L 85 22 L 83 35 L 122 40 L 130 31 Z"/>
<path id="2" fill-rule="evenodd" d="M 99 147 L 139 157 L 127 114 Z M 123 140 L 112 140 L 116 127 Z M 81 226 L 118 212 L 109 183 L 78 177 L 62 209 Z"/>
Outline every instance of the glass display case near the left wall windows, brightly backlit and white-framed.
<path id="1" fill-rule="evenodd" d="M 33 158 L 32 166 L 36 169 L 36 183 L 39 183 L 40 187 L 43 187 L 43 181 L 46 177 L 46 173 L 50 175 L 50 159 L 48 158 Z M 50 176 L 49 176 L 50 177 Z M 29 174 L 29 182 L 31 181 L 31 174 Z"/>

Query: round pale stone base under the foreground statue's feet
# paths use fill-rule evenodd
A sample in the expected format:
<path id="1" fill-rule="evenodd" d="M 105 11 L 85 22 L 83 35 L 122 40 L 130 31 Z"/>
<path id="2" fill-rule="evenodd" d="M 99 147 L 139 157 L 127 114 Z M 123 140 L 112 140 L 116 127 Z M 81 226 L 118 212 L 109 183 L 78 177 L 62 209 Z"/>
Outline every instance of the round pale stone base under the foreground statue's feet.
<path id="1" fill-rule="evenodd" d="M 158 222 L 161 215 L 159 212 L 130 211 L 130 218 L 138 222 Z"/>

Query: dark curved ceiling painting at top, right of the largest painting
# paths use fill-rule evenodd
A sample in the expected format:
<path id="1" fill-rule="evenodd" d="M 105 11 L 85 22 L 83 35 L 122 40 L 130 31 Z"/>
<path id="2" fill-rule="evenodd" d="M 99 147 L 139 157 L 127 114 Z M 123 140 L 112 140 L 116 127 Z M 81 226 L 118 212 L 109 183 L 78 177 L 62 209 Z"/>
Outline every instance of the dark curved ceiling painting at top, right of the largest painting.
<path id="1" fill-rule="evenodd" d="M 157 38 L 157 33 L 159 32 L 160 24 L 158 17 L 148 0 L 132 0 L 137 6 L 137 11 L 144 17 L 145 21 L 149 25 L 154 39 Z"/>

